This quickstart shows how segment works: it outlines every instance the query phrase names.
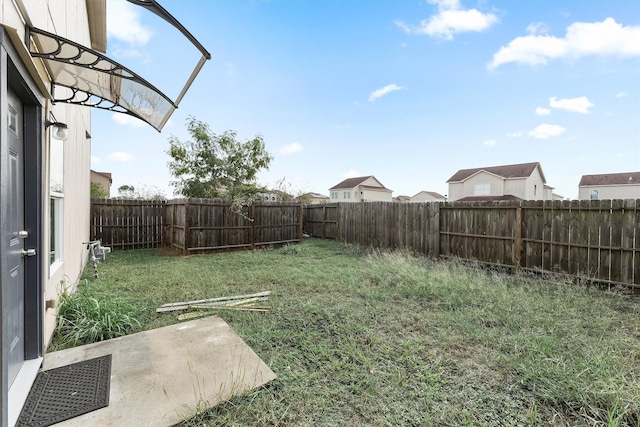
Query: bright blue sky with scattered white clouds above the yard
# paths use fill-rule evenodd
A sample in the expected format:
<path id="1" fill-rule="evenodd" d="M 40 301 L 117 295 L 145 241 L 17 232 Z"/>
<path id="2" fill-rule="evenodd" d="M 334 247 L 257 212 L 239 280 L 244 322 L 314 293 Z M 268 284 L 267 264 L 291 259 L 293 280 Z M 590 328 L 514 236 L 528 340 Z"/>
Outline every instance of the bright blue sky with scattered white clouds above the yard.
<path id="1" fill-rule="evenodd" d="M 640 170 L 637 0 L 160 0 L 211 53 L 161 133 L 92 112 L 92 168 L 172 196 L 188 116 L 274 160 L 259 182 L 318 192 L 374 175 L 447 194 L 457 170 L 540 162 L 568 198 L 585 174 Z M 108 0 L 107 55 L 175 97 L 199 52 Z"/>

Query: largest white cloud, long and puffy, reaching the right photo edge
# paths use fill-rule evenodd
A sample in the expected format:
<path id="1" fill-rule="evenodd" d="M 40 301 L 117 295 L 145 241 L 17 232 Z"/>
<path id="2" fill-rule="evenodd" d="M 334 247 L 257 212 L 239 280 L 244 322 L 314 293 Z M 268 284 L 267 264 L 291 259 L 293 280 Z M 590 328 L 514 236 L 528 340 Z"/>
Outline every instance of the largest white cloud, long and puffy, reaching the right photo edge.
<path id="1" fill-rule="evenodd" d="M 575 22 L 567 27 L 563 38 L 539 34 L 516 37 L 493 54 L 488 68 L 509 62 L 545 65 L 551 59 L 589 55 L 640 56 L 640 25 L 625 27 L 607 18 L 602 22 Z"/>

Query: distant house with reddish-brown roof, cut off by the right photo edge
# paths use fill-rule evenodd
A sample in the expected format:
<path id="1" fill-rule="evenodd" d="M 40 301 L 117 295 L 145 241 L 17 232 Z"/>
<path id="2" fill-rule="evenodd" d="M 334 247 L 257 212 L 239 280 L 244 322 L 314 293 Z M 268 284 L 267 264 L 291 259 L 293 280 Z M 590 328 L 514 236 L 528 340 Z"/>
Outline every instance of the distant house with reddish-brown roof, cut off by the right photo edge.
<path id="1" fill-rule="evenodd" d="M 640 199 L 640 172 L 582 175 L 580 200 Z"/>

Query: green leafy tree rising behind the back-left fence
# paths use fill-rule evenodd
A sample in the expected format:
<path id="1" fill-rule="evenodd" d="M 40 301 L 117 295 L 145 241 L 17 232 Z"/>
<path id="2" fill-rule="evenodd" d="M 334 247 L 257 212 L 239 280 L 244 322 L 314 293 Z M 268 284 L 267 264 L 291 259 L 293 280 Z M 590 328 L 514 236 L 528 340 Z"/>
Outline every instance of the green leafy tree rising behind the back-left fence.
<path id="1" fill-rule="evenodd" d="M 269 169 L 273 157 L 267 152 L 261 135 L 241 142 L 235 131 L 221 135 L 209 125 L 190 116 L 187 130 L 189 141 L 169 138 L 171 156 L 169 171 L 176 178 L 171 185 L 176 194 L 186 197 L 227 197 L 250 203 L 264 191 L 257 185 L 257 175 Z"/>

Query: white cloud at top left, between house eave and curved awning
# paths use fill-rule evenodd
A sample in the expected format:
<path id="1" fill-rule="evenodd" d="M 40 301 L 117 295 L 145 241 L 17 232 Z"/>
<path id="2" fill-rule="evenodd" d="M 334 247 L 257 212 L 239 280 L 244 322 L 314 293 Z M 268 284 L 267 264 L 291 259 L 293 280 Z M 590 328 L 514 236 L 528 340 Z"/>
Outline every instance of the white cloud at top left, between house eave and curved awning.
<path id="1" fill-rule="evenodd" d="M 107 37 L 131 46 L 144 46 L 153 31 L 140 23 L 139 8 L 126 1 L 109 1 L 107 7 Z"/>

